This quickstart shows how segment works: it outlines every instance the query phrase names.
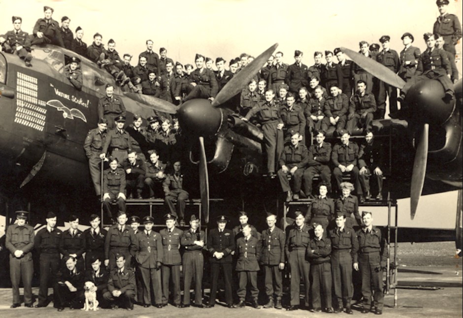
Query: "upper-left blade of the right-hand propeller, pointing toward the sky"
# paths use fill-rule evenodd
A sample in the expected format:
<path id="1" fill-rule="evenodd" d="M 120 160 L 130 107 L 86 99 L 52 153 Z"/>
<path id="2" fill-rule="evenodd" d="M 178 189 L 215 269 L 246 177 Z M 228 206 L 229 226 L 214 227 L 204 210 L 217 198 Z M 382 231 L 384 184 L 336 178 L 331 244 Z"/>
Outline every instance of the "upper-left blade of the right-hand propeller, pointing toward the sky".
<path id="1" fill-rule="evenodd" d="M 365 71 L 379 78 L 383 82 L 402 89 L 405 85 L 405 81 L 401 79 L 396 73 L 387 68 L 386 66 L 379 64 L 373 59 L 367 58 L 363 54 L 341 47 L 341 51 L 344 52 L 352 61 L 362 67 Z"/>

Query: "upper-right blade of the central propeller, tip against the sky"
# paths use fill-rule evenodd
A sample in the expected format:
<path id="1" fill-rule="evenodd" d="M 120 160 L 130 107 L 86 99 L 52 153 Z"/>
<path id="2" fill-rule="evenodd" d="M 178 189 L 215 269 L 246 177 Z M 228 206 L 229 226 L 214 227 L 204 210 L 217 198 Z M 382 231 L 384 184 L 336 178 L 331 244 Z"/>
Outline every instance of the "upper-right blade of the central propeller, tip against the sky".
<path id="1" fill-rule="evenodd" d="M 230 82 L 228 82 L 214 98 L 212 106 L 217 107 L 241 92 L 243 87 L 257 74 L 257 72 L 259 72 L 262 66 L 264 66 L 265 62 L 267 62 L 268 58 L 272 55 L 277 46 L 278 43 L 273 44 L 254 61 L 235 74 Z"/>

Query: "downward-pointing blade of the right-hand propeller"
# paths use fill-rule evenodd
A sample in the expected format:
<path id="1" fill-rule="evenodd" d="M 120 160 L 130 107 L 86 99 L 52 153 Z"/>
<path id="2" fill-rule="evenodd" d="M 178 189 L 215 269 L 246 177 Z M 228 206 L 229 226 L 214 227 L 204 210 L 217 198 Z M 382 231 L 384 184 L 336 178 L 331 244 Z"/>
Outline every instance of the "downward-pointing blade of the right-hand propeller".
<path id="1" fill-rule="evenodd" d="M 429 124 L 423 126 L 418 146 L 416 147 L 415 161 L 413 162 L 412 184 L 410 189 L 410 218 L 415 218 L 416 208 L 420 200 L 421 191 L 425 183 L 426 164 L 428 161 Z"/>

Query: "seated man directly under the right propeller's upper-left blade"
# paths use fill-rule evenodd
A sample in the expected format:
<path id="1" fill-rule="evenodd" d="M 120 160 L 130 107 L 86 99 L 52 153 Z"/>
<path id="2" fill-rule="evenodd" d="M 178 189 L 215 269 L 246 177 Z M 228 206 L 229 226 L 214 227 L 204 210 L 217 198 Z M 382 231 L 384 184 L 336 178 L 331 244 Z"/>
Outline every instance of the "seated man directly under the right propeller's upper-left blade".
<path id="1" fill-rule="evenodd" d="M 371 130 L 374 112 L 376 112 L 374 95 L 366 91 L 366 82 L 364 80 L 359 80 L 357 82 L 357 91 L 351 97 L 349 105 L 346 127 L 349 134 L 357 127 Z"/>

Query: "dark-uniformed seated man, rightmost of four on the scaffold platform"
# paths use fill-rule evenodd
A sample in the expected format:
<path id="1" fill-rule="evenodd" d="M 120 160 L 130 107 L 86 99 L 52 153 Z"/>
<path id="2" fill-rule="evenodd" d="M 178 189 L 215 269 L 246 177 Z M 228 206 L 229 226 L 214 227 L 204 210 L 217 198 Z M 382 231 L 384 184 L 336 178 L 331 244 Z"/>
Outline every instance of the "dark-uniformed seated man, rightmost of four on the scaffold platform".
<path id="1" fill-rule="evenodd" d="M 365 142 L 360 146 L 359 150 L 359 168 L 360 168 L 360 184 L 362 185 L 365 199 L 371 198 L 370 193 L 370 178 L 376 181 L 378 186 L 377 200 L 383 199 L 383 170 L 384 170 L 384 151 L 382 145 L 374 140 L 374 135 L 371 130 L 365 130 Z M 374 176 L 374 177 L 373 177 Z M 364 203 L 364 202 L 360 202 Z"/>

